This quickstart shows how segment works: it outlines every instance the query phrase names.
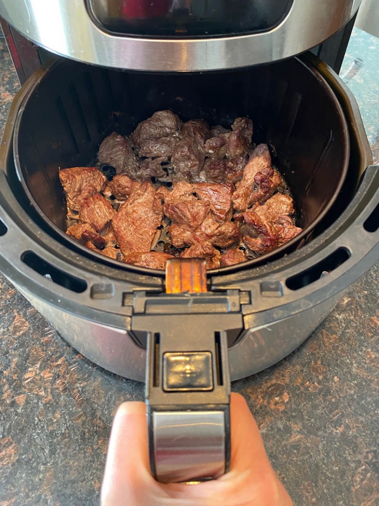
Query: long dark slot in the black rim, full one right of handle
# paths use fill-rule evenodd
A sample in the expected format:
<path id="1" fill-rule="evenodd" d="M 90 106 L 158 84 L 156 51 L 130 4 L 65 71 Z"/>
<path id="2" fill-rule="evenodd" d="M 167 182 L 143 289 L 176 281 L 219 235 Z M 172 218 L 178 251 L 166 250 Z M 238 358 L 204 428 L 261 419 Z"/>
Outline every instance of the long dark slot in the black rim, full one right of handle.
<path id="1" fill-rule="evenodd" d="M 317 281 L 317 279 L 320 279 L 322 276 L 329 274 L 329 272 L 334 271 L 337 267 L 340 267 L 340 265 L 349 260 L 349 258 L 350 252 L 345 248 L 339 248 L 310 269 L 288 278 L 286 285 L 291 290 L 299 290 Z"/>

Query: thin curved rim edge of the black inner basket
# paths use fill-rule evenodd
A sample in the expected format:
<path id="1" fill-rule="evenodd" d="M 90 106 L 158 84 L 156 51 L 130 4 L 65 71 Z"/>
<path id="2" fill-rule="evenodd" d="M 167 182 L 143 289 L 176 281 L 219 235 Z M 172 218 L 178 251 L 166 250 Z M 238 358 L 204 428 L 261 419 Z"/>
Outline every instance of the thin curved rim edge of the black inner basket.
<path id="1" fill-rule="evenodd" d="M 313 220 L 306 228 L 304 228 L 303 231 L 299 235 L 297 235 L 296 237 L 294 237 L 290 241 L 286 242 L 285 244 L 279 246 L 278 248 L 274 249 L 273 251 L 270 251 L 270 252 L 268 252 L 264 255 L 261 255 L 255 259 L 247 260 L 246 262 L 242 262 L 240 264 L 235 264 L 235 265 L 232 265 L 229 267 L 210 269 L 207 271 L 208 277 L 215 276 L 215 275 L 227 275 L 227 274 L 231 274 L 236 271 L 239 271 L 239 270 L 252 269 L 252 268 L 258 267 L 260 265 L 266 264 L 266 263 L 268 263 L 272 260 L 275 260 L 277 258 L 280 258 L 283 255 L 285 255 L 286 252 L 291 252 L 291 251 L 301 247 L 304 243 L 307 242 L 307 240 L 311 236 L 311 233 L 314 230 L 314 228 L 327 215 L 330 208 L 335 203 L 335 201 L 336 201 L 336 199 L 343 187 L 343 184 L 345 182 L 347 172 L 348 172 L 348 167 L 349 167 L 350 136 L 349 136 L 349 129 L 348 129 L 347 120 L 346 120 L 345 114 L 343 112 L 342 106 L 341 106 L 338 98 L 336 97 L 334 91 L 331 89 L 331 87 L 328 84 L 328 82 L 326 81 L 326 79 L 317 70 L 314 63 L 313 62 L 304 62 L 299 58 L 295 58 L 295 59 L 298 60 L 299 64 L 305 65 L 306 67 L 308 67 L 310 70 L 313 71 L 313 74 L 317 77 L 317 79 L 320 82 L 320 86 L 322 86 L 324 88 L 326 93 L 330 96 L 331 100 L 334 102 L 335 107 L 336 107 L 336 113 L 338 114 L 338 117 L 342 123 L 342 132 L 344 134 L 343 139 L 344 139 L 345 145 L 344 145 L 344 159 L 343 159 L 343 163 L 342 163 L 342 170 L 341 170 L 339 183 L 335 189 L 333 196 L 329 199 L 329 201 L 327 202 L 327 204 L 325 205 L 323 210 L 319 213 L 317 218 L 315 220 Z M 24 95 L 24 97 L 23 97 L 23 101 L 28 100 L 28 98 L 34 92 L 36 87 L 38 87 L 39 82 L 44 78 L 45 74 L 50 72 L 51 70 L 53 70 L 62 61 L 64 61 L 64 60 L 60 59 L 58 61 L 55 61 L 50 66 L 47 66 L 42 72 L 39 72 L 36 77 L 35 77 L 35 75 L 32 75 L 28 79 L 28 81 L 30 82 L 30 85 L 29 85 L 26 95 Z M 32 81 L 34 81 L 34 82 L 32 82 Z M 15 98 L 15 100 L 17 100 L 17 97 Z M 28 197 L 32 207 L 37 212 L 38 216 L 50 227 L 50 229 L 52 229 L 55 232 L 55 234 L 57 234 L 60 237 L 60 239 L 64 243 L 66 243 L 66 244 L 68 243 L 70 245 L 71 249 L 79 250 L 81 252 L 81 254 L 83 254 L 85 256 L 89 256 L 90 258 L 94 258 L 98 262 L 105 263 L 107 265 L 110 265 L 113 268 L 127 270 L 127 271 L 131 271 L 131 272 L 139 273 L 139 274 L 144 274 L 144 275 L 148 274 L 148 275 L 152 275 L 155 277 L 157 277 L 157 276 L 163 277 L 165 275 L 165 271 L 163 271 L 163 270 L 150 269 L 150 268 L 146 268 L 146 267 L 139 267 L 139 266 L 136 266 L 133 264 L 126 264 L 126 263 L 123 263 L 118 260 L 110 259 L 102 254 L 97 253 L 96 251 L 86 248 L 84 245 L 82 245 L 81 243 L 79 243 L 75 239 L 68 236 L 62 229 L 60 229 L 57 225 L 55 225 L 47 215 L 45 215 L 45 213 L 40 208 L 40 206 L 38 205 L 38 203 L 36 202 L 36 200 L 34 199 L 33 195 L 31 194 L 31 192 L 28 188 L 28 185 L 23 177 L 23 173 L 22 173 L 22 169 L 21 169 L 21 165 L 20 165 L 18 134 L 19 134 L 19 130 L 20 130 L 22 116 L 23 116 L 23 108 L 21 107 L 19 114 L 17 115 L 16 122 L 15 122 L 15 129 L 14 129 L 14 136 L 13 136 L 13 152 L 14 152 L 15 169 L 16 169 L 17 177 L 22 185 L 22 188 L 23 188 L 26 196 Z"/>

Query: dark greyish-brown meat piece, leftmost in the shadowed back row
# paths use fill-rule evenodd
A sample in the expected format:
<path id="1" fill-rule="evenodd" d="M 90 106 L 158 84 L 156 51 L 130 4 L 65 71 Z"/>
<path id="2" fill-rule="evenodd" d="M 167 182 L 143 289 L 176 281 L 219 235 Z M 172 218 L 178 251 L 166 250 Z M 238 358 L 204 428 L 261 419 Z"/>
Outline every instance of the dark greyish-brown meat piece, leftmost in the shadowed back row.
<path id="1" fill-rule="evenodd" d="M 109 135 L 100 144 L 98 158 L 100 163 L 107 163 L 115 168 L 117 174 L 135 177 L 138 164 L 129 139 L 122 135 Z"/>

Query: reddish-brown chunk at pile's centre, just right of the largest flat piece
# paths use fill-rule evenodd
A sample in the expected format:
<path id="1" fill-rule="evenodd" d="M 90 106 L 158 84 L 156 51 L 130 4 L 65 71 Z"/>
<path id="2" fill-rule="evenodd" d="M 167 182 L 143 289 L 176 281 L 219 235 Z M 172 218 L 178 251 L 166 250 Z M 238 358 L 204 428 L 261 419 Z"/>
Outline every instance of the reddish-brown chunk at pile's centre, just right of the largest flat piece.
<path id="1" fill-rule="evenodd" d="M 203 223 L 210 209 L 209 202 L 201 200 L 176 202 L 165 202 L 163 204 L 164 214 L 173 223 L 187 230 L 196 230 Z"/>

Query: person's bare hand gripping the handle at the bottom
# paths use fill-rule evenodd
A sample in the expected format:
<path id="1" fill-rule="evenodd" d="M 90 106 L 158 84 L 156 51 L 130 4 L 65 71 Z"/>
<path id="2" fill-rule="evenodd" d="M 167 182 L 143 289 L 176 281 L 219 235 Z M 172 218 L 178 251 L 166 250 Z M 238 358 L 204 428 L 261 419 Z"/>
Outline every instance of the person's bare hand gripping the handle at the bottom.
<path id="1" fill-rule="evenodd" d="M 108 447 L 102 506 L 292 506 L 239 394 L 231 394 L 230 427 L 229 473 L 198 485 L 159 483 L 150 474 L 146 406 L 121 404 Z"/>

